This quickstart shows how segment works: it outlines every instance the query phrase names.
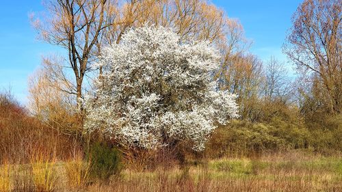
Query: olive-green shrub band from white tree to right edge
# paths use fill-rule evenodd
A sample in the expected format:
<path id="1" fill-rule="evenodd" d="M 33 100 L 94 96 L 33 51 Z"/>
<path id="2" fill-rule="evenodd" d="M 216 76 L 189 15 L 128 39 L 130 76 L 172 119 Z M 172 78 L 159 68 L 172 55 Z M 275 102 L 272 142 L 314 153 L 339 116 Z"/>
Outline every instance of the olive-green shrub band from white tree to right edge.
<path id="1" fill-rule="evenodd" d="M 337 116 L 312 128 L 276 117 L 264 123 L 236 120 L 213 133 L 206 154 L 210 157 L 251 156 L 299 148 L 333 154 L 342 150 L 341 122 L 342 118 Z"/>

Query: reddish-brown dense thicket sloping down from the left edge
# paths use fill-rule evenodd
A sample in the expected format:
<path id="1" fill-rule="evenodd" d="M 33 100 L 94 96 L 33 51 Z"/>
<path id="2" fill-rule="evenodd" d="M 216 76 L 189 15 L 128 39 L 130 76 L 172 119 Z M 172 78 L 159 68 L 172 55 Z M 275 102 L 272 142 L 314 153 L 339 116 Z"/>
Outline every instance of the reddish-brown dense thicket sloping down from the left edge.
<path id="1" fill-rule="evenodd" d="M 0 161 L 28 163 L 43 152 L 57 159 L 68 159 L 79 143 L 60 134 L 29 115 L 8 92 L 0 92 Z"/>

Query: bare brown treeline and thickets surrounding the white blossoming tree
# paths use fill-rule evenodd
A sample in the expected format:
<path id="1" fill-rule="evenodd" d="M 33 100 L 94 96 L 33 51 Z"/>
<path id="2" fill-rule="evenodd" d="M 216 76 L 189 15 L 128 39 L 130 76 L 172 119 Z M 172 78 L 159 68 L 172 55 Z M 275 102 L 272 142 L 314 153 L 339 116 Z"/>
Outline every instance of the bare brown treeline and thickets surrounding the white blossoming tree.
<path id="1" fill-rule="evenodd" d="M 127 162 L 144 165 L 163 161 L 168 152 L 168 159 L 181 162 L 188 156 L 254 156 L 291 149 L 339 153 L 341 4 L 304 1 L 293 14 L 283 47 L 296 66 L 293 77 L 288 64 L 274 57 L 261 61 L 250 53 L 251 41 L 239 21 L 207 1 L 50 1 L 46 13 L 31 19 L 32 25 L 42 40 L 66 54 L 42 58 L 41 68 L 29 79 L 28 109 L 10 94 L 1 94 L 0 159 L 29 161 L 35 150 L 68 159 L 76 151 L 89 152 L 92 143 L 119 148 Z M 207 40 L 220 50 L 220 70 L 213 78 L 220 89 L 239 96 L 240 118 L 220 125 L 205 152 L 194 153 L 185 144 L 163 153 L 146 152 L 120 148 L 100 134 L 83 134 L 81 101 L 92 91 L 90 80 L 101 81 L 102 73 L 90 66 L 103 46 L 119 43 L 124 31 L 145 23 L 172 27 L 183 40 Z"/>

